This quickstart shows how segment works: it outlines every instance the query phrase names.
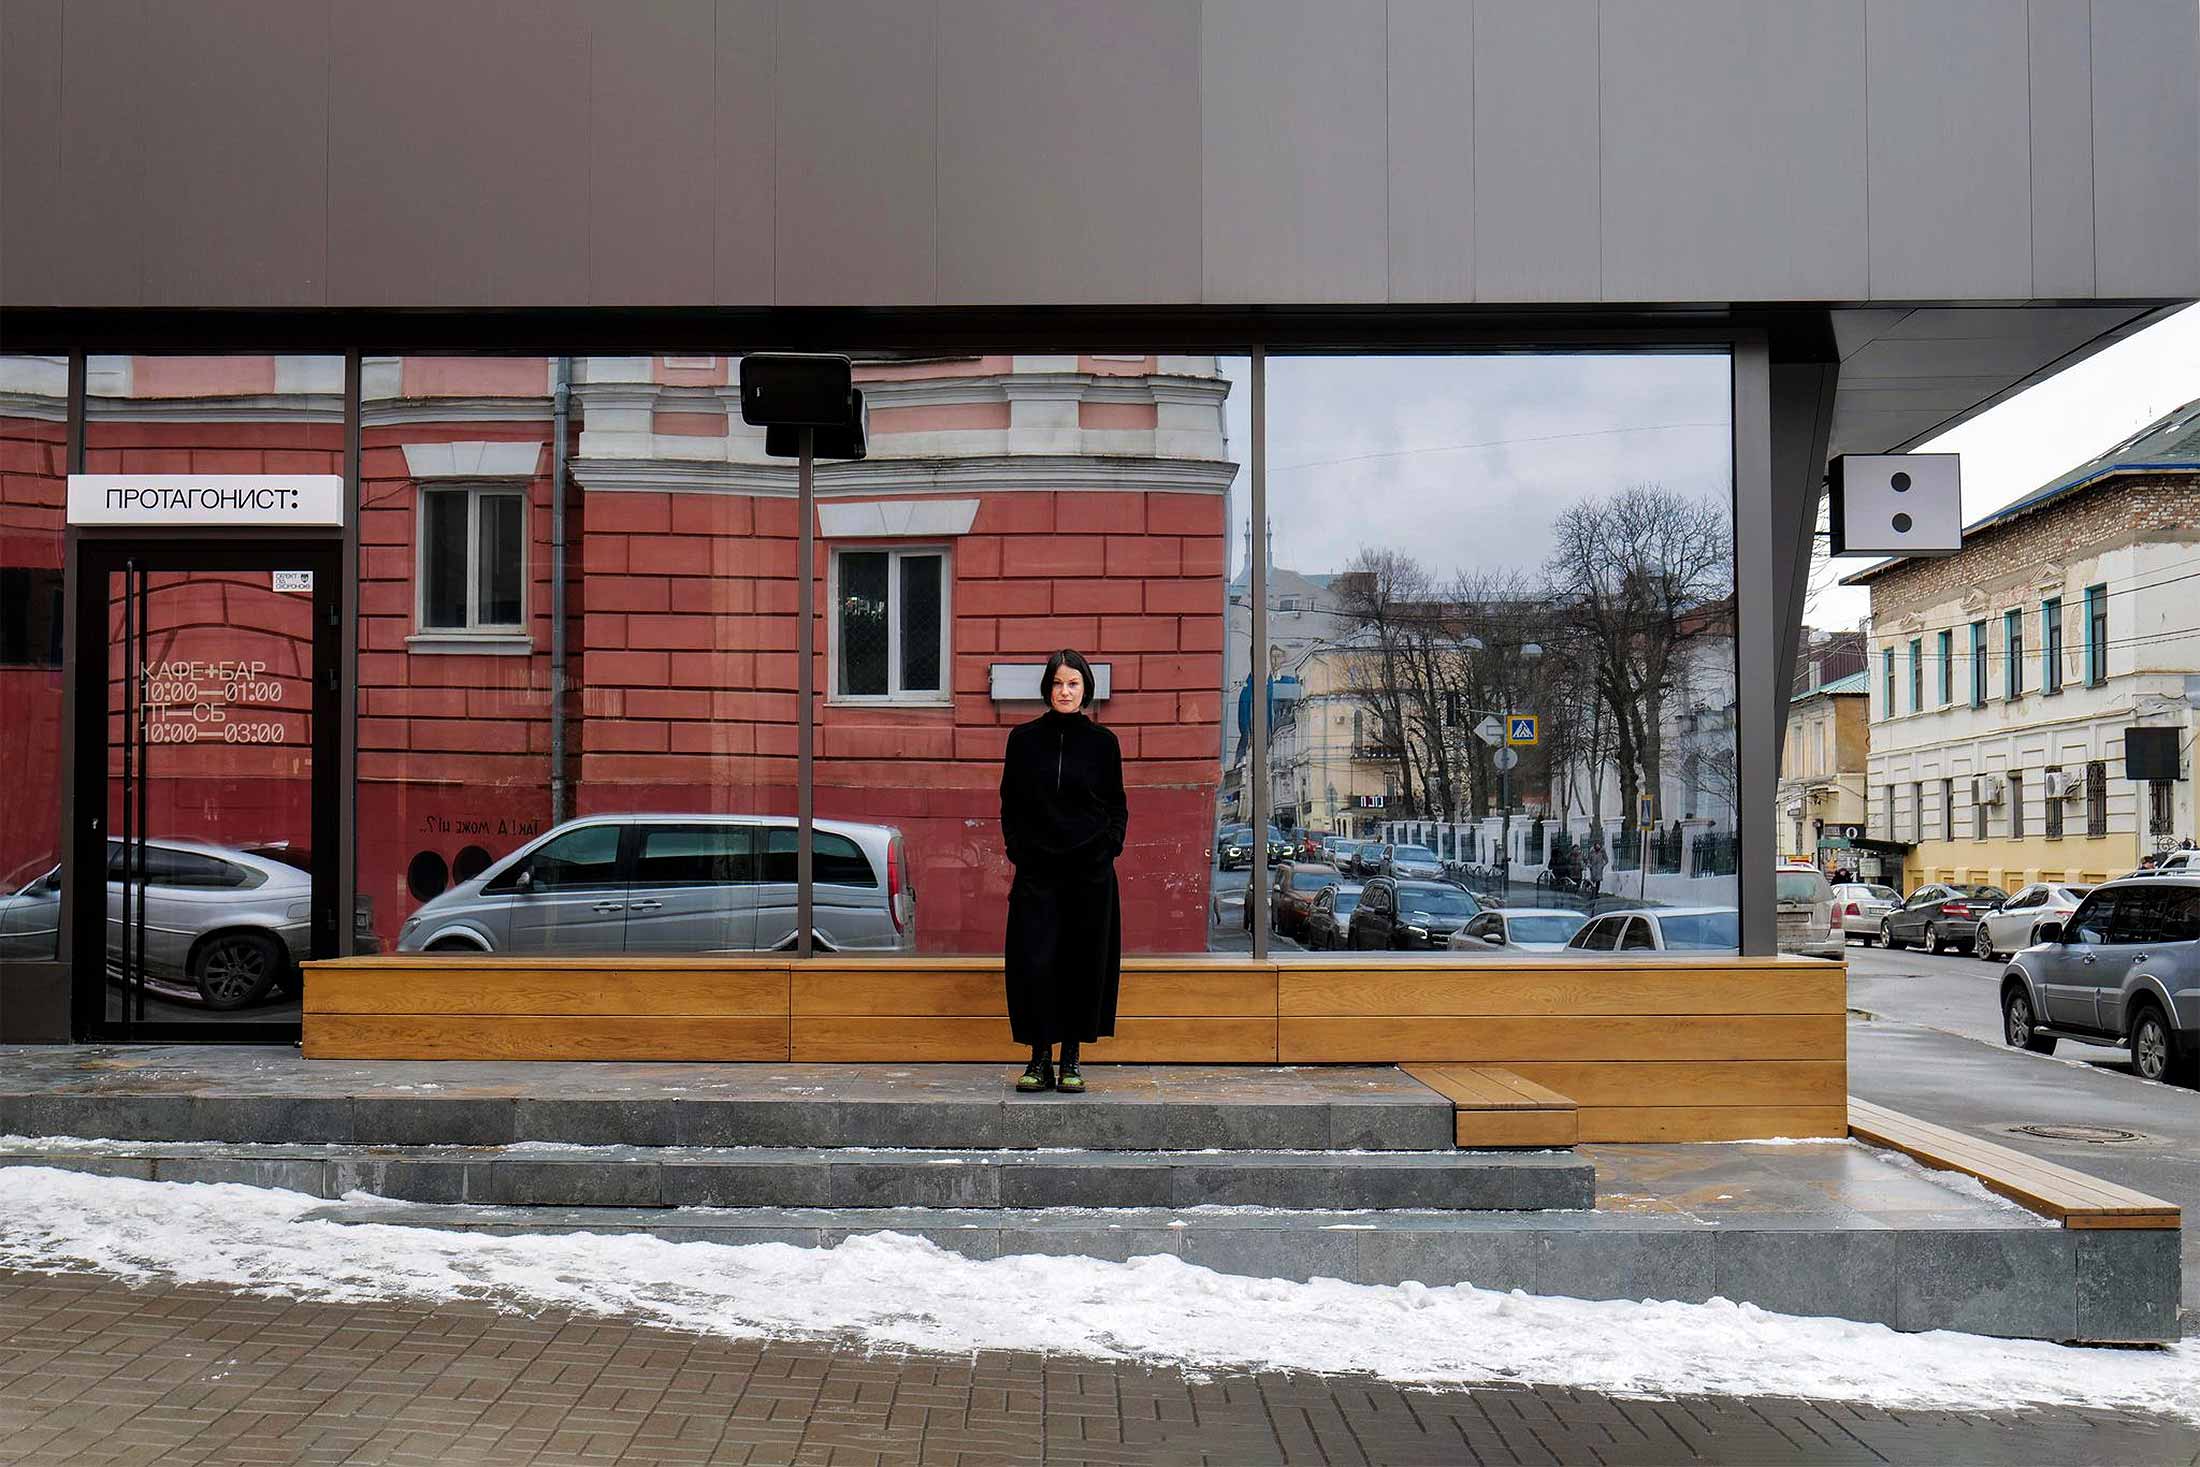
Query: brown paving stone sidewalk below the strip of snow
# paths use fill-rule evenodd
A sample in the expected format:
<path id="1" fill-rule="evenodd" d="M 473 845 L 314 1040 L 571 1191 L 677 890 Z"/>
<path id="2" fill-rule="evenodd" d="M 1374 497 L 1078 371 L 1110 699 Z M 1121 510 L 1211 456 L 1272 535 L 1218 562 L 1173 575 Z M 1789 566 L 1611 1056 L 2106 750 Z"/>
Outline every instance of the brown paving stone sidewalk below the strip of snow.
<path id="1" fill-rule="evenodd" d="M 0 1463 L 2200 1463 L 2112 1412 L 1883 1412 L 682 1335 L 0 1271 Z"/>

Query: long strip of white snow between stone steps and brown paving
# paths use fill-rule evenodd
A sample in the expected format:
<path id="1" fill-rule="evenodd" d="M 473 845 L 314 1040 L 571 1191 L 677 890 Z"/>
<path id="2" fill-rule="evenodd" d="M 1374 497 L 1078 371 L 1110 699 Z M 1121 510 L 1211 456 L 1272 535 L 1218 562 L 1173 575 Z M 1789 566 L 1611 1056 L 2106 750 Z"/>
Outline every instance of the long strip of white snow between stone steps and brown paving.
<path id="1" fill-rule="evenodd" d="M 1883 1408 L 2088 1405 L 2200 1421 L 2200 1344 L 2075 1350 L 1901 1335 L 1751 1304 L 1588 1302 L 1472 1284 L 1239 1278 L 1179 1258 L 975 1262 L 906 1234 L 832 1249 L 642 1234 L 480 1236 L 304 1214 L 315 1196 L 9 1168 L 0 1267 L 97 1269 L 330 1302 L 486 1300 L 730 1335 L 1038 1350 L 1212 1370 L 1775 1394 Z"/>

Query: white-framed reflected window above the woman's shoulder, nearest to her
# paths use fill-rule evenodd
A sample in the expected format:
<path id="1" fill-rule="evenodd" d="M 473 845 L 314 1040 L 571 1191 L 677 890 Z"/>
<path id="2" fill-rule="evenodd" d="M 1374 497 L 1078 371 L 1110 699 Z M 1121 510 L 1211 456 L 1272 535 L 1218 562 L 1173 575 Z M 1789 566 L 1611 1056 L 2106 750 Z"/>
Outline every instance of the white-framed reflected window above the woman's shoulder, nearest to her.
<path id="1" fill-rule="evenodd" d="M 948 552 L 834 550 L 832 576 L 834 697 L 950 702 Z"/>

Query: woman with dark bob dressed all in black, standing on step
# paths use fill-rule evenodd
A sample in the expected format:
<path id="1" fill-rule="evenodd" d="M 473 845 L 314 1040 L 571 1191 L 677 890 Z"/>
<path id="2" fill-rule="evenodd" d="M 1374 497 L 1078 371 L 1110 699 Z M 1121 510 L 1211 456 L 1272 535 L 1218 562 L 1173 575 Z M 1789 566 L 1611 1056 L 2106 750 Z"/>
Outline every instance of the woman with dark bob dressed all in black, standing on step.
<path id="1" fill-rule="evenodd" d="M 1067 647 L 1038 684 L 1047 710 L 1008 735 L 1001 845 L 1008 889 L 1008 1023 L 1032 1065 L 1019 1091 L 1085 1091 L 1078 1045 L 1115 1032 L 1122 908 L 1115 858 L 1131 825 L 1122 746 L 1085 717 L 1093 669 Z M 1063 1047 L 1056 1073 L 1052 1047 Z"/>

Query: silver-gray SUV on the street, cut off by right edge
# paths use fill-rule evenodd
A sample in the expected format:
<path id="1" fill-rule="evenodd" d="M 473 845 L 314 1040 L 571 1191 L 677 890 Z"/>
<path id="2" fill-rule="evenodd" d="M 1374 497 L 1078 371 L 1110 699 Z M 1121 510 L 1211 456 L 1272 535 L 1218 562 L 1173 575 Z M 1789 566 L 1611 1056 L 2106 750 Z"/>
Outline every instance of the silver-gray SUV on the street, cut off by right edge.
<path id="1" fill-rule="evenodd" d="M 2125 1045 L 2143 1080 L 2200 1084 L 2200 873 L 2094 886 L 2002 970 L 2002 1038 Z"/>

